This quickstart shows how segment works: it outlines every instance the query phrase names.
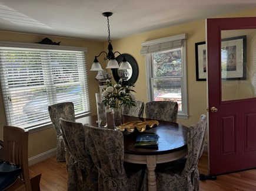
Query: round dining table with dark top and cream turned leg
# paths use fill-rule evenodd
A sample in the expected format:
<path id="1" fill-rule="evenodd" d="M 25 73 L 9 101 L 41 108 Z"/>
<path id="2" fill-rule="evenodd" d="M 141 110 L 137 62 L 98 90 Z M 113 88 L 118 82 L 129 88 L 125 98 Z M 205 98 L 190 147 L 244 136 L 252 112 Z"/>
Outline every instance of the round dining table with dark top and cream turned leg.
<path id="1" fill-rule="evenodd" d="M 77 122 L 97 125 L 97 115 L 91 115 L 78 119 Z M 108 128 L 113 128 L 112 115 L 107 114 Z M 151 119 L 122 115 L 122 122 L 147 121 Z M 124 131 L 124 161 L 146 164 L 148 169 L 148 190 L 157 190 L 155 167 L 158 163 L 175 161 L 188 154 L 187 133 L 188 127 L 175 122 L 157 120 L 157 127 L 147 128 L 144 132 L 135 129 L 134 132 Z M 158 135 L 158 148 L 137 148 L 135 141 L 139 134 L 149 133 Z"/>

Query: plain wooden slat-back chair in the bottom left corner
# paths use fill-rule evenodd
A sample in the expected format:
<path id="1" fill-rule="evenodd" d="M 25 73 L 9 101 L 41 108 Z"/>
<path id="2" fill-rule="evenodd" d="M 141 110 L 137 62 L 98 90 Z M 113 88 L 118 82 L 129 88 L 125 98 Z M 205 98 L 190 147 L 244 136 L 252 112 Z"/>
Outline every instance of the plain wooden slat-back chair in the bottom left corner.
<path id="1" fill-rule="evenodd" d="M 22 168 L 18 180 L 5 191 L 31 191 L 28 168 L 28 130 L 14 126 L 4 126 L 4 155 L 5 161 L 21 165 Z"/>

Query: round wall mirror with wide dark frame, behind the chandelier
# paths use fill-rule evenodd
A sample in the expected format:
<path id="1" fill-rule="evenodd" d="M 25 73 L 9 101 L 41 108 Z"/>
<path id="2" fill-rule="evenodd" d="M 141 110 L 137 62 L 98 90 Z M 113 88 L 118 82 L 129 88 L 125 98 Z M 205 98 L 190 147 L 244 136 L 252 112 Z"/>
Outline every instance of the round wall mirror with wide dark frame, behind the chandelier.
<path id="1" fill-rule="evenodd" d="M 130 54 L 121 54 L 115 58 L 115 60 L 117 60 L 119 65 L 124 59 L 124 56 L 129 64 L 130 69 L 127 69 L 127 70 L 112 69 L 112 74 L 115 81 L 119 81 L 120 79 L 122 79 L 122 84 L 125 86 L 129 86 L 131 84 L 135 84 L 135 82 L 138 79 L 138 74 L 139 74 L 138 64 L 134 59 L 134 57 L 132 57 Z"/>

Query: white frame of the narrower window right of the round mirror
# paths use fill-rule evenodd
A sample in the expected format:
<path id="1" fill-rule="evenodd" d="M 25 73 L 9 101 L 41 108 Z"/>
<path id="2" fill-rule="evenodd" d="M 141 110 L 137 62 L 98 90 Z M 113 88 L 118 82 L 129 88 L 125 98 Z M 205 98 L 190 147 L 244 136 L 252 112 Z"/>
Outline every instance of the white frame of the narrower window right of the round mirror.
<path id="1" fill-rule="evenodd" d="M 177 39 L 182 39 L 182 46 L 181 46 L 181 57 L 182 57 L 182 76 L 181 78 L 181 100 L 182 100 L 182 111 L 178 111 L 178 118 L 188 119 L 188 98 L 187 98 L 187 53 L 186 53 L 186 39 L 187 34 L 175 35 L 164 37 L 161 39 L 149 40 L 147 42 L 141 43 L 142 47 L 150 46 L 150 45 L 157 45 L 161 46 L 161 43 L 168 43 L 174 42 Z M 155 52 L 162 52 L 165 50 L 171 50 L 175 48 L 167 48 L 158 50 Z M 145 53 L 145 65 L 146 65 L 146 81 L 147 81 L 147 98 L 148 101 L 154 101 L 154 88 L 153 88 L 153 79 L 161 79 L 154 77 L 152 64 L 153 64 L 153 53 Z M 169 79 L 177 78 L 177 77 L 170 77 Z M 167 79 L 165 77 L 165 79 Z"/>

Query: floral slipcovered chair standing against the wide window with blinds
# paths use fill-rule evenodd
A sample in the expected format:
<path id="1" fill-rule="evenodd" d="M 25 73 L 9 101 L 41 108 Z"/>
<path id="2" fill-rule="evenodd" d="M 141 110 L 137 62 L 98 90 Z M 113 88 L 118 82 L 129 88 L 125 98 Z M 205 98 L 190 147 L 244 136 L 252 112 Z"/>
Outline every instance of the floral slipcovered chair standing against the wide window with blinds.
<path id="1" fill-rule="evenodd" d="M 68 162 L 69 152 L 65 151 L 65 142 L 62 137 L 61 127 L 59 125 L 59 118 L 64 118 L 65 120 L 75 121 L 75 110 L 74 104 L 72 102 L 58 103 L 48 106 L 49 116 L 52 121 L 56 132 L 56 160 L 57 162 Z"/>

